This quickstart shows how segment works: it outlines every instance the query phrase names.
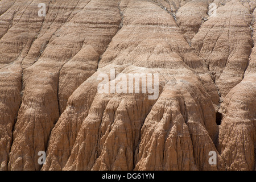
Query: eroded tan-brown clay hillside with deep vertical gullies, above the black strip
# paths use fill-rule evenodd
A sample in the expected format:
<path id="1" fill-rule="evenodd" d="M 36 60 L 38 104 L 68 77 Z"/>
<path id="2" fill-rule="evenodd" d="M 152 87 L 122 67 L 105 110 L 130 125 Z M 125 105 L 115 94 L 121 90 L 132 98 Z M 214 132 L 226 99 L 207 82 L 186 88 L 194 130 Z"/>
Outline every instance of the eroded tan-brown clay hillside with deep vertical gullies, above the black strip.
<path id="1" fill-rule="evenodd" d="M 255 6 L 1 0 L 0 170 L 255 170 Z M 112 68 L 158 99 L 98 93 Z"/>

